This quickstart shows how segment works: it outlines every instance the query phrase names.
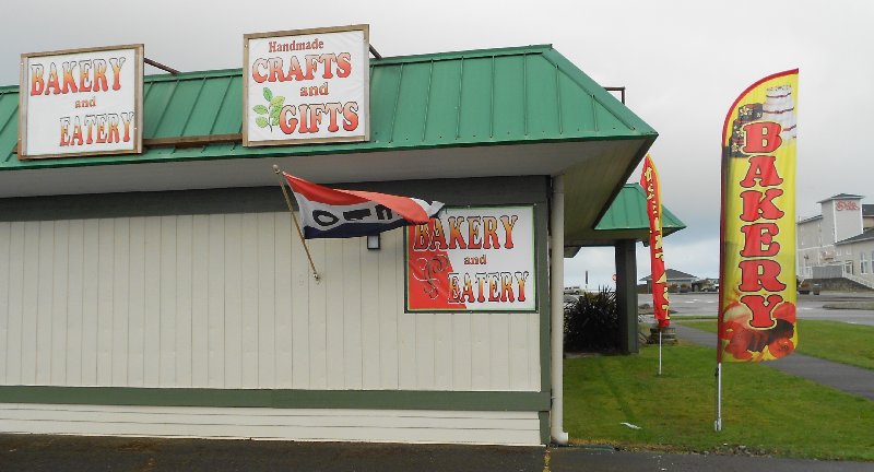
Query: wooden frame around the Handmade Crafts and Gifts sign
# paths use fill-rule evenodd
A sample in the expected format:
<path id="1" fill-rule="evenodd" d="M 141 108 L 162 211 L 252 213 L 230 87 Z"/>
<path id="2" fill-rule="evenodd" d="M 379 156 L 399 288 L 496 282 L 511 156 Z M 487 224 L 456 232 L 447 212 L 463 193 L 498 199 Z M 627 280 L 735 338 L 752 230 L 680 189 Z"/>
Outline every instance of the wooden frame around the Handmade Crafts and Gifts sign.
<path id="1" fill-rule="evenodd" d="M 363 119 L 365 129 L 364 135 L 358 137 L 334 137 L 334 138 L 314 138 L 314 139 L 277 139 L 277 140 L 251 140 L 249 138 L 249 40 L 263 39 L 271 37 L 290 37 L 290 36 L 304 36 L 330 33 L 345 33 L 361 31 L 364 34 L 364 51 L 363 58 L 365 61 L 364 72 L 364 106 L 361 117 Z M 323 143 L 341 143 L 341 142 L 367 142 L 370 141 L 370 25 L 369 24 L 354 24 L 346 26 L 329 26 L 305 30 L 286 30 L 274 31 L 264 33 L 249 33 L 243 35 L 243 145 L 246 148 L 256 146 L 273 146 L 273 145 L 306 145 L 306 144 L 323 144 Z"/>

